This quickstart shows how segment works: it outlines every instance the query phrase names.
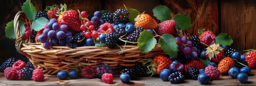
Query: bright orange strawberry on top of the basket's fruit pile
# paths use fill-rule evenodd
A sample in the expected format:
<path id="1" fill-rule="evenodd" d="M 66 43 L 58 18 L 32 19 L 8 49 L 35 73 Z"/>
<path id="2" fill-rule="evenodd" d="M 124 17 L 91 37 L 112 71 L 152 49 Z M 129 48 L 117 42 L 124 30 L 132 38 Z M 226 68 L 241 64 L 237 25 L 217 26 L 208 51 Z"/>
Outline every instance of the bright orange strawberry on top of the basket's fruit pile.
<path id="1" fill-rule="evenodd" d="M 150 15 L 144 14 L 144 12 L 137 16 L 135 25 L 144 29 L 156 29 L 158 27 L 156 21 Z"/>

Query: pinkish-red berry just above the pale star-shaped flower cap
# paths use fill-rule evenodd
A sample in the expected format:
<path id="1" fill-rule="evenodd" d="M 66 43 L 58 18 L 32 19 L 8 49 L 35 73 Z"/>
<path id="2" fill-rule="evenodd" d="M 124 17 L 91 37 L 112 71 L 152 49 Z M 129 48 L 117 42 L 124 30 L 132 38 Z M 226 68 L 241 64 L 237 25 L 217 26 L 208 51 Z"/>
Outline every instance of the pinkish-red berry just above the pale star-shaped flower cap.
<path id="1" fill-rule="evenodd" d="M 200 39 L 201 42 L 207 44 L 208 46 L 212 45 L 213 43 L 215 43 L 215 37 L 213 35 L 205 35 L 204 37 L 202 37 L 202 39 Z M 207 47 L 205 45 L 203 45 L 203 47 Z"/>

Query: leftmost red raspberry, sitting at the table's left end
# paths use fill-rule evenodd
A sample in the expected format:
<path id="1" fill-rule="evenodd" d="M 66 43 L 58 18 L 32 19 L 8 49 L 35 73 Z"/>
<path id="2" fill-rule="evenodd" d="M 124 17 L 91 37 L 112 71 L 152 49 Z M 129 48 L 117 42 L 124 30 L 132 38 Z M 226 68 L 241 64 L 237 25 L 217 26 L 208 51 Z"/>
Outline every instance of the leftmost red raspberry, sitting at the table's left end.
<path id="1" fill-rule="evenodd" d="M 4 70 L 4 76 L 6 77 L 7 80 L 16 80 L 19 78 L 17 72 L 18 71 L 15 68 L 7 67 Z"/>

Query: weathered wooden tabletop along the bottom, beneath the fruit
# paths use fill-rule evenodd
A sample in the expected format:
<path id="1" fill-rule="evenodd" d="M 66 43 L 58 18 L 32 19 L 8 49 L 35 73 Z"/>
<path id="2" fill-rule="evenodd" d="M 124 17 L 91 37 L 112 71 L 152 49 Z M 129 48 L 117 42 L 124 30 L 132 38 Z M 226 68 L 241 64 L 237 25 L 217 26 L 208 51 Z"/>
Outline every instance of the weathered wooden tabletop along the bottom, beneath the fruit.
<path id="1" fill-rule="evenodd" d="M 0 86 L 5 85 L 22 85 L 22 86 L 54 86 L 54 85 L 79 85 L 79 86 L 107 86 L 107 85 L 117 85 L 117 86 L 170 86 L 170 85 L 181 85 L 181 86 L 203 86 L 197 80 L 185 79 L 182 83 L 179 84 L 171 84 L 169 81 L 162 81 L 159 77 L 138 77 L 135 80 L 131 80 L 130 83 L 122 83 L 119 80 L 118 76 L 114 77 L 114 81 L 112 84 L 103 83 L 100 79 L 86 79 L 86 78 L 78 78 L 78 79 L 66 79 L 59 80 L 56 76 L 45 76 L 43 81 L 34 81 L 34 80 L 6 80 L 4 74 L 0 72 Z M 247 83 L 241 83 L 237 79 L 233 79 L 228 75 L 221 75 L 219 80 L 214 80 L 207 85 L 214 86 L 234 86 L 234 85 L 246 85 L 246 86 L 255 86 L 256 85 L 256 70 L 252 70 L 252 73 L 249 76 Z"/>

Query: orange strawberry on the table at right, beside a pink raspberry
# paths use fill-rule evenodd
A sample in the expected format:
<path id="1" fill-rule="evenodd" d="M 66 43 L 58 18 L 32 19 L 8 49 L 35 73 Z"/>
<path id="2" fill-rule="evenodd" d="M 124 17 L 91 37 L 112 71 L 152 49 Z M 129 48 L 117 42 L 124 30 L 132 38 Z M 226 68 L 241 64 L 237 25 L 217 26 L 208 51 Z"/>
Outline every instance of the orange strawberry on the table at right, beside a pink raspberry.
<path id="1" fill-rule="evenodd" d="M 225 57 L 221 59 L 221 61 L 218 64 L 218 70 L 221 72 L 221 74 L 227 74 L 229 69 L 235 66 L 235 62 L 230 57 Z"/>

